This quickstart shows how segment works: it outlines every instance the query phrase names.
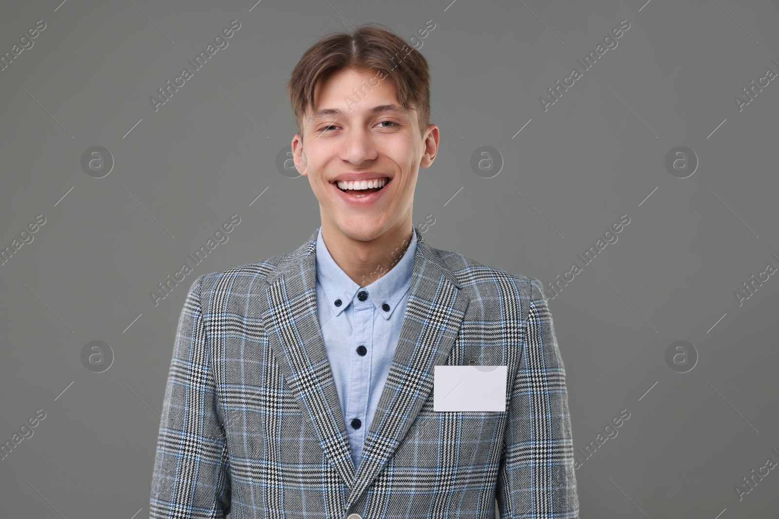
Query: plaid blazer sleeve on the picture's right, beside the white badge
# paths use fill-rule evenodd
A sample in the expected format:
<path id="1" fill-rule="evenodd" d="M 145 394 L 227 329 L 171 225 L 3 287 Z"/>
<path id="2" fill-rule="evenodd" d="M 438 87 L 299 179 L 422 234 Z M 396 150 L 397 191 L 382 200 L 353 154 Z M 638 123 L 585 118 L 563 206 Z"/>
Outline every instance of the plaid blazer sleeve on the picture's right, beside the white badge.
<path id="1" fill-rule="evenodd" d="M 579 499 L 566 370 L 541 282 L 530 285 L 495 496 L 501 519 L 573 519 Z"/>

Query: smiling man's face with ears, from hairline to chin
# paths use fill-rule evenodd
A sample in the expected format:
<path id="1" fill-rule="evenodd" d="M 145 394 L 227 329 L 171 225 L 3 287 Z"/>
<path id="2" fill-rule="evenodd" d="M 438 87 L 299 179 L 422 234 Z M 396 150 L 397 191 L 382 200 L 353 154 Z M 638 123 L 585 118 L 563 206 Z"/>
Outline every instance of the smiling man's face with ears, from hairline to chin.
<path id="1" fill-rule="evenodd" d="M 354 240 L 373 240 L 411 224 L 419 167 L 430 166 L 438 149 L 435 124 L 422 135 L 416 110 L 404 110 L 393 83 L 380 77 L 340 70 L 320 81 L 315 108 L 305 113 L 302 142 L 300 135 L 292 140 L 295 167 L 319 200 L 323 227 Z M 386 184 L 380 182 L 379 191 L 356 191 L 376 192 L 355 197 L 335 182 L 346 174 Z"/>

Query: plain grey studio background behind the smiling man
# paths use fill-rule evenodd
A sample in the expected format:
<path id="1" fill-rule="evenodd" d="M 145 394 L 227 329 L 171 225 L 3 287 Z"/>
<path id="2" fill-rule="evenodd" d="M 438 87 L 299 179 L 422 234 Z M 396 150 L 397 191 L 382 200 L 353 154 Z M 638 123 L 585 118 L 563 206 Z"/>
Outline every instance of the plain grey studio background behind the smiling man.
<path id="1" fill-rule="evenodd" d="M 4 517 L 148 515 L 187 287 L 291 251 L 320 223 L 308 181 L 276 165 L 295 132 L 291 69 L 340 26 L 411 40 L 428 19 L 441 142 L 414 224 L 432 215 L 429 244 L 546 285 L 630 218 L 549 302 L 581 517 L 777 517 L 777 468 L 742 500 L 735 486 L 779 461 L 779 275 L 734 296 L 779 266 L 779 79 L 734 101 L 779 72 L 775 2 L 5 2 L 0 51 L 38 19 L 0 72 L 0 245 L 46 218 L 0 266 L 0 440 L 46 417 L 0 461 Z M 155 112 L 149 97 L 233 19 L 229 46 Z M 545 111 L 539 96 L 623 19 L 618 47 Z M 110 150 L 108 176 L 82 169 L 90 146 Z M 471 170 L 480 146 L 499 150 L 497 176 Z M 692 176 L 666 169 L 675 146 L 698 156 Z M 155 306 L 150 291 L 235 213 L 227 243 Z M 104 373 L 82 364 L 93 340 L 114 353 Z M 687 373 L 665 361 L 678 340 L 699 356 Z M 618 436 L 585 459 L 622 409 Z"/>

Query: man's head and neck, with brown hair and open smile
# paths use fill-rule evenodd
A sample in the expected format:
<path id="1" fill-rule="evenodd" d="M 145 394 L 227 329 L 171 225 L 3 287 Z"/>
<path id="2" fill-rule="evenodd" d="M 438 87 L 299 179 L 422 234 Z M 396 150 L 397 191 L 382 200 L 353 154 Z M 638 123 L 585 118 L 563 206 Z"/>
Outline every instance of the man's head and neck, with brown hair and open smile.
<path id="1" fill-rule="evenodd" d="M 400 52 L 385 47 L 388 35 L 375 27 L 354 37 L 362 48 L 351 63 L 344 54 L 323 55 L 326 44 L 303 54 L 287 93 L 298 119 L 294 163 L 319 200 L 323 241 L 365 286 L 372 273 L 392 268 L 387 251 L 405 251 L 414 238 L 414 188 L 419 168 L 435 159 L 439 129 L 428 124 L 425 58 L 398 37 L 390 40 Z M 331 40 L 339 38 L 348 45 L 347 35 Z"/>

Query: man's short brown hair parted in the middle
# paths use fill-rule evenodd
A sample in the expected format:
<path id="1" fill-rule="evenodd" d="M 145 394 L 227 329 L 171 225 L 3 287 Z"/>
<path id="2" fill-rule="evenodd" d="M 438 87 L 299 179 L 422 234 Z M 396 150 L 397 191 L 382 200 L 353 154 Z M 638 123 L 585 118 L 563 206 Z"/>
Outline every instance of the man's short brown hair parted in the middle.
<path id="1" fill-rule="evenodd" d="M 303 118 L 314 109 L 314 89 L 320 79 L 342 69 L 372 70 L 379 80 L 393 82 L 397 99 L 406 109 L 418 110 L 421 135 L 430 124 L 430 73 L 428 61 L 413 47 L 380 23 L 358 26 L 353 32 L 326 35 L 309 47 L 292 70 L 287 96 L 303 138 Z M 373 80 L 371 80 L 373 82 Z M 370 90 L 375 84 L 365 83 Z"/>

